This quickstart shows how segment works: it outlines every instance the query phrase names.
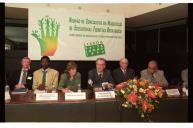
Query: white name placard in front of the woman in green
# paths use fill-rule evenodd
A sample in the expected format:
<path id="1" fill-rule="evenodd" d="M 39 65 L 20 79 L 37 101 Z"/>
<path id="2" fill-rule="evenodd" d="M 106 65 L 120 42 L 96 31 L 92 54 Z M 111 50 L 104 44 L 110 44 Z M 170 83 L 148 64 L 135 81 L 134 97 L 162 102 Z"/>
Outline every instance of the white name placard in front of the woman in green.
<path id="1" fill-rule="evenodd" d="M 85 92 L 68 92 L 68 93 L 65 93 L 65 100 L 67 101 L 86 100 L 86 93 Z"/>

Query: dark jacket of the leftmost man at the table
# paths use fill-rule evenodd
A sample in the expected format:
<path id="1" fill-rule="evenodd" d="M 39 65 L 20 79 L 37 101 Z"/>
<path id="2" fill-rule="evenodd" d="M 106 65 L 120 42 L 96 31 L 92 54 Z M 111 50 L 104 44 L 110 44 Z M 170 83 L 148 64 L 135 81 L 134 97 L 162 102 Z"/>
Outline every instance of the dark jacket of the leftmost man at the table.
<path id="1" fill-rule="evenodd" d="M 22 69 L 21 69 L 22 70 Z M 15 85 L 19 83 L 21 70 L 17 70 L 15 72 L 11 72 L 6 79 L 7 84 L 10 86 L 10 90 L 15 89 Z M 29 69 L 27 71 L 27 79 L 26 84 L 24 85 L 27 89 L 32 90 L 32 82 L 33 82 L 33 71 Z"/>

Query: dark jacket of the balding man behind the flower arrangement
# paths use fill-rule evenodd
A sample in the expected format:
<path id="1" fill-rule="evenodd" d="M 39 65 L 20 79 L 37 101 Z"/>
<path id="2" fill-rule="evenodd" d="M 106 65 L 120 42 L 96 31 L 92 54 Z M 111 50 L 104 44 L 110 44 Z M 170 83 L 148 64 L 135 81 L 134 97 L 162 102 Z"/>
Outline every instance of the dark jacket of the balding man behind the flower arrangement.
<path id="1" fill-rule="evenodd" d="M 121 68 L 117 68 L 113 71 L 113 78 L 116 84 L 122 83 L 135 77 L 135 71 L 131 68 L 126 70 L 126 74 L 123 73 Z"/>

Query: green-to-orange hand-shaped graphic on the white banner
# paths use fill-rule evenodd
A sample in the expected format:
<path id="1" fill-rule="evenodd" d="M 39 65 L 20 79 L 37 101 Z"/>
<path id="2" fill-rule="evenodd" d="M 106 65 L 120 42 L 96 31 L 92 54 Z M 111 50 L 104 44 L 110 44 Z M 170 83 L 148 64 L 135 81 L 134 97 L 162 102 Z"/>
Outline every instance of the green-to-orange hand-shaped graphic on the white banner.
<path id="1" fill-rule="evenodd" d="M 60 24 L 53 18 L 46 16 L 38 20 L 39 31 L 32 31 L 32 36 L 37 39 L 42 56 L 54 56 L 58 45 L 58 32 Z"/>

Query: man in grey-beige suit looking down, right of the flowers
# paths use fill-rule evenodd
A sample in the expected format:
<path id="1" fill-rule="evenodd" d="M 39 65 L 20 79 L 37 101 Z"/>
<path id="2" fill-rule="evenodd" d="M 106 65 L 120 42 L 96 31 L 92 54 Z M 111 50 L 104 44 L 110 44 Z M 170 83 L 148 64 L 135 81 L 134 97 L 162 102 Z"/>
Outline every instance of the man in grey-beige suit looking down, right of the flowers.
<path id="1" fill-rule="evenodd" d="M 153 83 L 159 83 L 162 87 L 168 86 L 164 71 L 158 70 L 157 62 L 155 60 L 149 61 L 148 68 L 142 70 L 140 73 L 142 79 L 149 80 Z"/>

